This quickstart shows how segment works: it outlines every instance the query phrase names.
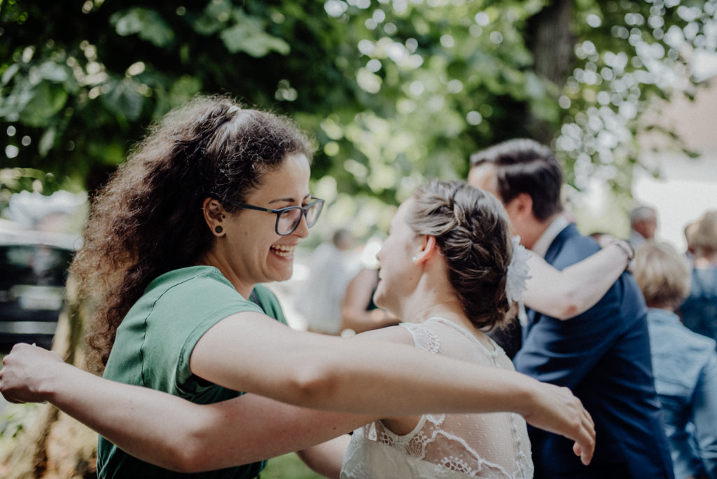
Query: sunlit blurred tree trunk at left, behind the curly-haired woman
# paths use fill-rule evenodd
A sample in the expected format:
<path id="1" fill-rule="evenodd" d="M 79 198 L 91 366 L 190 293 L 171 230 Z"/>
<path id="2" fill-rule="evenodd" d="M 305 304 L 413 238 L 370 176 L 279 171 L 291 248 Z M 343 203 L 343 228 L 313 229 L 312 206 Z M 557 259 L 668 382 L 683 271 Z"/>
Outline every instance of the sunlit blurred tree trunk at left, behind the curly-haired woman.
<path id="1" fill-rule="evenodd" d="M 60 314 L 52 350 L 67 363 L 85 367 L 84 318 L 87 308 L 67 282 L 67 306 Z M 0 464 L 5 479 L 96 478 L 97 433 L 60 412 L 41 404 L 32 424 L 16 437 L 16 445 Z"/>

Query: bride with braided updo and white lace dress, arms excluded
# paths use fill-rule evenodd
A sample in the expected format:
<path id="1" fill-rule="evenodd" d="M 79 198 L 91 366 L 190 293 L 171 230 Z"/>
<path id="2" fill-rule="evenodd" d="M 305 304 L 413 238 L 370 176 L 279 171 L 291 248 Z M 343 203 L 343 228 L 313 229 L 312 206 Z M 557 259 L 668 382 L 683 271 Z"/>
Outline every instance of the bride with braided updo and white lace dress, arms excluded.
<path id="1" fill-rule="evenodd" d="M 418 348 L 513 370 L 483 331 L 502 323 L 516 299 L 506 292 L 514 250 L 493 196 L 431 181 L 391 221 L 374 300 L 410 321 L 402 329 Z M 526 422 L 503 412 L 372 422 L 353 432 L 341 470 L 341 478 L 366 479 L 532 477 Z"/>

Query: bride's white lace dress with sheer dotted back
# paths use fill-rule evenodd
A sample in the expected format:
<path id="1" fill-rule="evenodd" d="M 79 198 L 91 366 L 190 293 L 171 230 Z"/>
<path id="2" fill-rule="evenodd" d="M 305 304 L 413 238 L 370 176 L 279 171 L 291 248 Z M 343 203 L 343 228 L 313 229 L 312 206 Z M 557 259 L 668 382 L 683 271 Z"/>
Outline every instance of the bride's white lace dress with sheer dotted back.
<path id="1" fill-rule="evenodd" d="M 492 340 L 489 350 L 469 331 L 443 318 L 402 323 L 418 348 L 476 364 L 513 370 Z M 343 457 L 341 478 L 533 477 L 526 422 L 519 414 L 425 414 L 407 435 L 380 421 L 353 432 Z"/>

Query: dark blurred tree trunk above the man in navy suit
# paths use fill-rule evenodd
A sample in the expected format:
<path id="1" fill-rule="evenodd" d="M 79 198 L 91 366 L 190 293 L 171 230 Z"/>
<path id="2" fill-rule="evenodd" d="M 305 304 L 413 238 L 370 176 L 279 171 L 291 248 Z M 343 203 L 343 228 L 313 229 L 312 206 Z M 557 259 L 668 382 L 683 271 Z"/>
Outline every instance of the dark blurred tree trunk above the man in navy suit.
<path id="1" fill-rule="evenodd" d="M 553 82 L 558 91 L 562 90 L 574 67 L 573 16 L 573 0 L 554 0 L 528 20 L 526 41 L 533 52 L 535 72 Z M 533 115 L 528 120 L 528 128 L 537 141 L 549 144 L 552 140 L 552 128 Z"/>

